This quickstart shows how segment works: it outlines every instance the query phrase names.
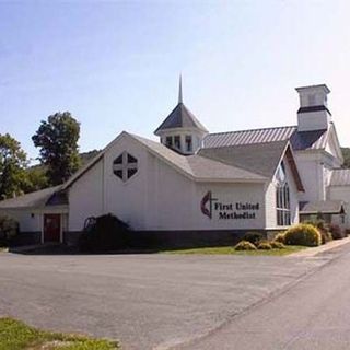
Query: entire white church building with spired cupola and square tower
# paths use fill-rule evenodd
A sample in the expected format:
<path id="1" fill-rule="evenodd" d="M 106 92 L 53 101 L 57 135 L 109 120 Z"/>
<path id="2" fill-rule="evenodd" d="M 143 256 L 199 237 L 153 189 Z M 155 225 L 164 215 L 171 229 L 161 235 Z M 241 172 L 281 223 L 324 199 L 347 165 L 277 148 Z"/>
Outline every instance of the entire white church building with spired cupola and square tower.
<path id="1" fill-rule="evenodd" d="M 210 133 L 185 106 L 159 142 L 122 131 L 67 183 L 0 202 L 0 214 L 42 243 L 68 242 L 86 218 L 112 213 L 140 237 L 214 242 L 280 231 L 322 215 L 350 228 L 350 170 L 325 84 L 296 89 L 298 124 Z"/>

